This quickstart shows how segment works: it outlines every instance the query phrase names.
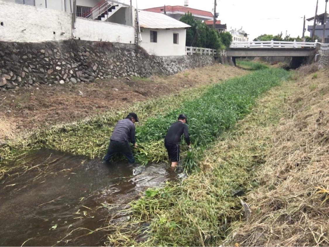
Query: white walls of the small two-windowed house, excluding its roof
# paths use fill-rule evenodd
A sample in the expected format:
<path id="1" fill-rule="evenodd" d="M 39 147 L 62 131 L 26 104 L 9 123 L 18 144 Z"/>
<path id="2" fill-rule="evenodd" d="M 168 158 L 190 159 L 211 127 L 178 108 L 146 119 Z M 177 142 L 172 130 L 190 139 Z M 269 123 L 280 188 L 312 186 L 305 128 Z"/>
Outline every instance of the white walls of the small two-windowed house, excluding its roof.
<path id="1" fill-rule="evenodd" d="M 150 42 L 150 31 L 156 31 L 157 42 Z M 173 43 L 173 34 L 178 34 L 178 44 Z M 156 56 L 185 55 L 186 29 L 142 29 L 140 46 L 149 54 Z"/>

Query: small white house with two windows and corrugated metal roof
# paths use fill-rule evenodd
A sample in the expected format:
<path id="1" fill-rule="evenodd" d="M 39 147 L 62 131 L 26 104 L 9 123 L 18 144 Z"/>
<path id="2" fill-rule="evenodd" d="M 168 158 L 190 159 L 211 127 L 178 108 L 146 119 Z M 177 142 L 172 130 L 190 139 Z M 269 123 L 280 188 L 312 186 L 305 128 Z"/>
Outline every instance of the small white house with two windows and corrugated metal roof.
<path id="1" fill-rule="evenodd" d="M 185 55 L 186 28 L 190 25 L 162 13 L 138 11 L 140 46 L 156 56 Z"/>

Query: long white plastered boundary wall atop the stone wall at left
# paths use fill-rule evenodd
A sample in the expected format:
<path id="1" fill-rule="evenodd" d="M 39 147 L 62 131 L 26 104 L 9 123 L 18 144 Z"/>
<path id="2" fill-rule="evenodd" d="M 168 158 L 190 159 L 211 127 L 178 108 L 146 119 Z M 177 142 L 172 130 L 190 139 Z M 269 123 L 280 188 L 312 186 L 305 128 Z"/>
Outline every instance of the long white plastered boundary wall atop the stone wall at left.
<path id="1" fill-rule="evenodd" d="M 49 2 L 50 0 L 47 0 L 47 4 Z M 73 37 L 71 13 L 4 0 L 0 0 L 0 6 L 0 22 L 3 22 L 3 26 L 0 26 L 0 41 L 43 42 Z M 134 34 L 134 27 L 131 26 L 76 18 L 77 39 L 133 44 Z"/>

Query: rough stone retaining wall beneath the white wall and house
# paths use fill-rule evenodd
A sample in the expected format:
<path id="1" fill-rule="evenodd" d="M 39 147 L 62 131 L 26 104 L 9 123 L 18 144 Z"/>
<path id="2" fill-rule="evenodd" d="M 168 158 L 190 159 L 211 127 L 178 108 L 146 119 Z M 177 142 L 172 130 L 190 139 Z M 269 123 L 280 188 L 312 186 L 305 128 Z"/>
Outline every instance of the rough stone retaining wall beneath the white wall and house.
<path id="1" fill-rule="evenodd" d="M 172 75 L 214 64 L 211 56 L 149 56 L 135 45 L 66 40 L 0 42 L 0 88 L 91 82 L 96 78 Z"/>

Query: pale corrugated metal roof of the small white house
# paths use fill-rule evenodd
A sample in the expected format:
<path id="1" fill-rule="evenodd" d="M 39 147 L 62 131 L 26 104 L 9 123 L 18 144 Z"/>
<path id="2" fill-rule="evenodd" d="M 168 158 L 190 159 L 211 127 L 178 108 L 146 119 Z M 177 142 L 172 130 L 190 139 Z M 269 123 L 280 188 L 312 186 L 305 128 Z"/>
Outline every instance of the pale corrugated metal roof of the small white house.
<path id="1" fill-rule="evenodd" d="M 186 28 L 190 25 L 171 18 L 162 13 L 138 11 L 139 25 L 143 28 L 165 29 L 165 28 Z"/>

